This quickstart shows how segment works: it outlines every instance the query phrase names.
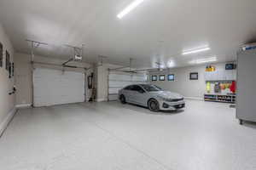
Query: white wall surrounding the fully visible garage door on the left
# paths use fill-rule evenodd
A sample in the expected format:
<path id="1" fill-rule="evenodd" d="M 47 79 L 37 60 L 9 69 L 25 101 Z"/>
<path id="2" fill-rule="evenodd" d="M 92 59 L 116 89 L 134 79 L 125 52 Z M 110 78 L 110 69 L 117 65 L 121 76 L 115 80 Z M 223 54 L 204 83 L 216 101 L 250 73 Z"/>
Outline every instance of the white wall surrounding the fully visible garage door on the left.
<path id="1" fill-rule="evenodd" d="M 57 64 L 61 65 L 63 62 L 67 60 L 63 59 L 50 59 L 49 57 L 44 56 L 35 56 L 34 59 L 35 62 L 43 62 L 43 63 L 49 63 L 49 64 Z M 17 105 L 32 105 L 32 64 L 31 64 L 31 55 L 30 54 L 21 54 L 16 53 L 15 54 L 15 74 L 16 74 L 16 104 Z M 91 65 L 87 63 L 82 62 L 70 62 L 70 65 L 77 65 L 81 67 L 89 68 Z M 60 66 L 53 66 L 53 65 L 38 65 L 34 64 L 34 67 L 46 67 L 50 69 L 57 69 L 61 70 L 62 67 Z M 72 68 L 65 68 L 66 71 L 79 71 L 84 72 L 84 69 L 72 69 Z M 90 74 L 92 70 L 87 71 L 87 74 Z M 86 79 L 85 79 L 86 82 Z M 87 87 L 87 84 L 86 84 Z M 91 91 L 88 89 L 86 90 L 87 98 L 89 98 Z"/>

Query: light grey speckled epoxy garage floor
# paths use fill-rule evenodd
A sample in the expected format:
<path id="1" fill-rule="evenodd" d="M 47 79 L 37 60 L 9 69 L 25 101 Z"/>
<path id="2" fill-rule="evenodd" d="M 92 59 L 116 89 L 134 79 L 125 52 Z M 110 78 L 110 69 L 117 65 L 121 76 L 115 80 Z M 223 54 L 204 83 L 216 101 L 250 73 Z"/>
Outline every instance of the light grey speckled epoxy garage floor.
<path id="1" fill-rule="evenodd" d="M 256 125 L 189 100 L 152 113 L 118 102 L 20 110 L 0 139 L 4 170 L 255 170 Z"/>

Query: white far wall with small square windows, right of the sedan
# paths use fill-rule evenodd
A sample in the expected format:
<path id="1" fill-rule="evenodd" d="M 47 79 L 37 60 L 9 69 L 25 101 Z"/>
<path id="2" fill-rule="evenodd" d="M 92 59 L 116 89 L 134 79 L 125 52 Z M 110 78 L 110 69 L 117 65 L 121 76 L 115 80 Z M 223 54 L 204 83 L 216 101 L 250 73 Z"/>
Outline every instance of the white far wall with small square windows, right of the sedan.
<path id="1" fill-rule="evenodd" d="M 158 81 L 152 83 L 160 86 L 160 88 L 182 94 L 184 97 L 187 98 L 203 99 L 203 95 L 206 94 L 207 91 L 207 84 L 205 80 L 206 66 L 207 65 L 198 65 L 183 68 L 174 68 L 169 71 L 150 72 L 149 80 L 151 82 L 151 76 L 157 75 Z M 225 63 L 214 64 L 214 66 L 216 66 L 217 70 L 225 69 Z M 199 80 L 189 80 L 190 72 L 198 72 Z M 168 82 L 166 77 L 166 81 L 160 82 L 159 75 L 161 74 L 166 76 L 168 74 L 174 74 L 175 81 Z"/>

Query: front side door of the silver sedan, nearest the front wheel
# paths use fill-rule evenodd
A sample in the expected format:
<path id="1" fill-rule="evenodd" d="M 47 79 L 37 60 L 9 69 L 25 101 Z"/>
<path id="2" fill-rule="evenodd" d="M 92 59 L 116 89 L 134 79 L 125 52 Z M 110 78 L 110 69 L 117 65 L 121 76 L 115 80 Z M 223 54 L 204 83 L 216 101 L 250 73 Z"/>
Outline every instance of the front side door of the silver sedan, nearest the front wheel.
<path id="1" fill-rule="evenodd" d="M 137 105 L 145 105 L 145 103 L 147 103 L 147 93 L 145 92 L 145 90 L 143 88 L 141 88 L 138 85 L 134 85 L 131 88 L 131 100 L 132 103 L 135 103 Z"/>

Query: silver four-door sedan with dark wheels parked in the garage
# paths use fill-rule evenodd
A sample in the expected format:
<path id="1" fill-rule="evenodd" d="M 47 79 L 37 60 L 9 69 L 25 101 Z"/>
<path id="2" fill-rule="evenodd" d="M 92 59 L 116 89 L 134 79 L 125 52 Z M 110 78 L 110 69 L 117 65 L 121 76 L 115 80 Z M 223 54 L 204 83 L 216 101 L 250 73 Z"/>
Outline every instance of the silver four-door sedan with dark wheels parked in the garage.
<path id="1" fill-rule="evenodd" d="M 148 107 L 150 111 L 176 111 L 185 107 L 183 96 L 152 84 L 134 84 L 119 90 L 122 104 L 131 103 Z"/>

